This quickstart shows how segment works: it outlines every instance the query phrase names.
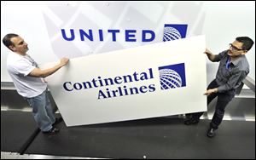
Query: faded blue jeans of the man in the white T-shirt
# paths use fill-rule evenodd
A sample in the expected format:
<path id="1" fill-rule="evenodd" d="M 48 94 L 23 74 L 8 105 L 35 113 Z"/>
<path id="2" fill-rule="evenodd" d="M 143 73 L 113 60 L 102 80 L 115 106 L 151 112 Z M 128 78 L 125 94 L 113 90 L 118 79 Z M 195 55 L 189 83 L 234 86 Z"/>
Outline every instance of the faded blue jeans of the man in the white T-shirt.
<path id="1" fill-rule="evenodd" d="M 49 91 L 44 90 L 42 94 L 36 97 L 25 98 L 32 106 L 32 115 L 38 123 L 39 129 L 43 132 L 49 131 L 52 128 L 52 124 L 55 123 L 55 115 L 49 101 Z"/>

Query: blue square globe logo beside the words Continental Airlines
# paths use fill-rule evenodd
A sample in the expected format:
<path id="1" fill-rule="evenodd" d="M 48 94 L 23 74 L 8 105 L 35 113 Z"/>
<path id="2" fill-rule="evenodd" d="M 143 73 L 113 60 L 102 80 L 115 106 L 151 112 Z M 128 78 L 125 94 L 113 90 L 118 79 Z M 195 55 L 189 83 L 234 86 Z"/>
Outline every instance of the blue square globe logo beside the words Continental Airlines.
<path id="1" fill-rule="evenodd" d="M 161 89 L 176 89 L 186 86 L 184 63 L 160 66 L 160 86 Z"/>

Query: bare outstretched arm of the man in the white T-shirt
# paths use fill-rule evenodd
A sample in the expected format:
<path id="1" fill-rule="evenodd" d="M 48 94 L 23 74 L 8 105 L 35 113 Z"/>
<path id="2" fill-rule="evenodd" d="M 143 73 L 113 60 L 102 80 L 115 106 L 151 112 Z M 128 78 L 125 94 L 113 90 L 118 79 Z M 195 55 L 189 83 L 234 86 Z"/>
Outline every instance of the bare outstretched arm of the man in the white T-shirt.
<path id="1" fill-rule="evenodd" d="M 45 69 L 45 70 L 41 70 L 40 68 L 35 68 L 28 74 L 28 76 L 48 77 L 49 75 L 55 73 L 55 71 L 58 71 L 62 66 L 66 66 L 68 61 L 69 61 L 69 59 L 67 59 L 67 58 L 61 58 L 61 62 L 58 65 L 53 66 L 49 69 Z"/>

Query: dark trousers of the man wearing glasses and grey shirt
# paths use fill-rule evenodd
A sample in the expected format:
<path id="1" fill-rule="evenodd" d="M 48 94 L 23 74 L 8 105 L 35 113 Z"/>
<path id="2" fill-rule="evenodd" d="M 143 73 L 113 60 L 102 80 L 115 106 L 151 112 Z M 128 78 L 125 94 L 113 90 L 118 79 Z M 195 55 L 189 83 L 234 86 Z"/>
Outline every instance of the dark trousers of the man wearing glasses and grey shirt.
<path id="1" fill-rule="evenodd" d="M 218 88 L 215 79 L 208 85 L 207 89 L 214 88 Z M 212 122 L 210 123 L 212 129 L 218 129 L 218 125 L 222 122 L 224 117 L 225 107 L 229 104 L 230 100 L 234 98 L 235 94 L 236 89 L 232 89 L 224 93 L 214 93 L 207 96 L 207 105 L 209 105 L 215 97 L 218 97 Z M 203 113 L 204 112 L 193 113 L 192 117 L 199 119 Z"/>

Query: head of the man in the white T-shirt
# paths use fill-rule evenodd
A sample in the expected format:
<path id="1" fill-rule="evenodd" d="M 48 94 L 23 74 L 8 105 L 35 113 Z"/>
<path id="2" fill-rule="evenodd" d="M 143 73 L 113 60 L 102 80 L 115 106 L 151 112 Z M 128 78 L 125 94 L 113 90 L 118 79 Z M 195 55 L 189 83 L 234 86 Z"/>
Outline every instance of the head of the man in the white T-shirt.
<path id="1" fill-rule="evenodd" d="M 3 37 L 3 44 L 13 52 L 26 54 L 27 43 L 17 34 L 9 33 Z"/>

